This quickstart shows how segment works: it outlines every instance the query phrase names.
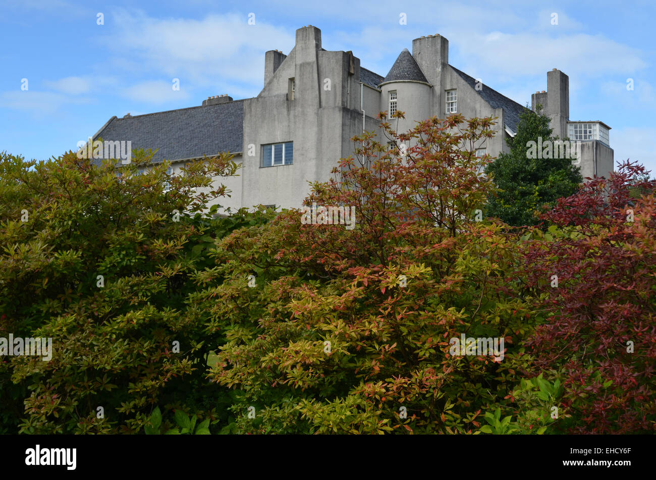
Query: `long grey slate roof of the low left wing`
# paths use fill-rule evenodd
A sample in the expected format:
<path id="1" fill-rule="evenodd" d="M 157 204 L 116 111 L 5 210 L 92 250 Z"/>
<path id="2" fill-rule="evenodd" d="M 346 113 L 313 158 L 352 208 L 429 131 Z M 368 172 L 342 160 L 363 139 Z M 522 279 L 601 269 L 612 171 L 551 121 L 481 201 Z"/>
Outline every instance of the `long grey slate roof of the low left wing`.
<path id="1" fill-rule="evenodd" d="M 114 118 L 94 140 L 98 137 L 130 140 L 133 149 L 158 148 L 154 162 L 239 152 L 243 144 L 243 100 Z"/>

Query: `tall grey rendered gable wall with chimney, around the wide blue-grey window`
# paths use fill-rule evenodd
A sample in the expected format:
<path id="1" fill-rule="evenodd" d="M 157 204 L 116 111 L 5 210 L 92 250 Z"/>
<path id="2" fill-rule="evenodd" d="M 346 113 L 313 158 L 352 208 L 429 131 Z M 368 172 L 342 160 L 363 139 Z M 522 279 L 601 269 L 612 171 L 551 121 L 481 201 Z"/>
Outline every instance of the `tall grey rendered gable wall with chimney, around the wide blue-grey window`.
<path id="1" fill-rule="evenodd" d="M 267 65 L 262 92 L 244 101 L 241 205 L 300 208 L 308 182 L 327 181 L 362 130 L 359 60 L 321 50 L 321 31 L 308 26 L 297 30 L 294 49 L 270 70 Z M 261 167 L 262 145 L 278 142 L 294 142 L 293 165 Z"/>

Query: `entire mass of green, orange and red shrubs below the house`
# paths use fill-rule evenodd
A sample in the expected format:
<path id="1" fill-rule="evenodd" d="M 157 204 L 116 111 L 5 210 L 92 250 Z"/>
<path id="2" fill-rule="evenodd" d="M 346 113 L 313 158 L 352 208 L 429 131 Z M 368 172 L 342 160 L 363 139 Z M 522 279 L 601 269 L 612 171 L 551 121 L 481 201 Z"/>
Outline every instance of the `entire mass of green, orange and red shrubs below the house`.
<path id="1" fill-rule="evenodd" d="M 230 192 L 194 188 L 235 174 L 225 154 L 176 177 L 138 175 L 145 151 L 120 177 L 0 155 L 0 337 L 54 344 L 49 362 L 0 357 L 1 431 L 653 433 L 644 169 L 515 228 L 482 215 L 493 119 L 400 117 L 311 184 L 305 205 L 352 208 L 352 229 L 215 216 Z M 502 358 L 454 353 L 461 336 L 502 339 Z"/>

